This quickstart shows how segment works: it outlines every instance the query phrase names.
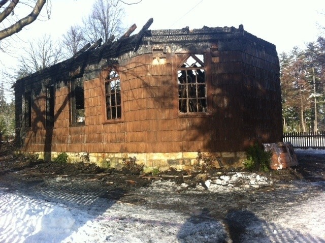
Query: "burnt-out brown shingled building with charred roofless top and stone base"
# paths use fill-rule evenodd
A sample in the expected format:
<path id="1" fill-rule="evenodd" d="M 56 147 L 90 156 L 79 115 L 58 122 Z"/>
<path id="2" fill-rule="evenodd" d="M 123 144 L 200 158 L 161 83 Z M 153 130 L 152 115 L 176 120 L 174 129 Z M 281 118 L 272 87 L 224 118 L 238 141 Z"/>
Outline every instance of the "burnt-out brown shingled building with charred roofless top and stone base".
<path id="1" fill-rule="evenodd" d="M 198 150 L 232 165 L 256 141 L 282 141 L 275 45 L 242 25 L 153 31 L 151 22 L 17 80 L 21 151 L 167 168 L 190 166 Z"/>

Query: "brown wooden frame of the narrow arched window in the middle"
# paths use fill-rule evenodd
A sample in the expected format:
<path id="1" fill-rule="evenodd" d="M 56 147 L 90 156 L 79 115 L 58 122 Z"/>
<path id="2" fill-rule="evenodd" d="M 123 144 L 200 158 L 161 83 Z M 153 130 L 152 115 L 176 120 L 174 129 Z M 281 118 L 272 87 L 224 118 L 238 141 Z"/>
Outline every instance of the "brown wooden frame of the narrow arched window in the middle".
<path id="1" fill-rule="evenodd" d="M 117 76 L 109 79 L 109 75 L 111 74 L 111 72 L 114 71 Z M 107 118 L 107 92 L 106 92 L 106 84 L 108 82 L 112 82 L 112 81 L 116 81 L 119 80 L 119 94 L 120 94 L 120 104 L 118 105 L 113 105 L 113 107 L 115 107 L 115 109 L 117 109 L 117 107 L 120 107 L 120 117 L 116 117 L 116 118 Z M 103 87 L 103 123 L 104 124 L 111 124 L 111 123 L 120 123 L 121 121 L 123 121 L 124 119 L 124 113 L 123 113 L 123 90 L 122 90 L 122 81 L 121 81 L 121 75 L 120 75 L 120 70 L 117 66 L 111 66 L 109 68 L 106 68 L 105 70 L 103 70 L 102 72 L 102 87 Z M 114 94 L 117 94 L 116 92 Z M 115 97 L 116 99 L 116 97 Z M 115 100 L 116 102 L 116 100 Z M 117 102 L 116 102 L 117 103 Z M 115 104 L 116 104 L 115 103 Z M 112 106 L 111 106 L 112 107 Z M 116 114 L 118 112 L 116 111 Z"/>

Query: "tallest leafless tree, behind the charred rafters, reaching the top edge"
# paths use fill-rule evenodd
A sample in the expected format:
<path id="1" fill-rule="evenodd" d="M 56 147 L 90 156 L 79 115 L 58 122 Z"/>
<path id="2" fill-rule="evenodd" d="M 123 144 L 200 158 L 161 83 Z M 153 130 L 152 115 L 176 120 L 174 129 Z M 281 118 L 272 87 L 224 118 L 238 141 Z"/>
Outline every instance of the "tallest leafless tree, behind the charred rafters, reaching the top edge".
<path id="1" fill-rule="evenodd" d="M 83 33 L 87 42 L 94 43 L 100 38 L 106 42 L 112 35 L 120 36 L 124 32 L 122 17 L 124 10 L 114 6 L 111 0 L 96 0 L 91 13 L 83 19 Z"/>

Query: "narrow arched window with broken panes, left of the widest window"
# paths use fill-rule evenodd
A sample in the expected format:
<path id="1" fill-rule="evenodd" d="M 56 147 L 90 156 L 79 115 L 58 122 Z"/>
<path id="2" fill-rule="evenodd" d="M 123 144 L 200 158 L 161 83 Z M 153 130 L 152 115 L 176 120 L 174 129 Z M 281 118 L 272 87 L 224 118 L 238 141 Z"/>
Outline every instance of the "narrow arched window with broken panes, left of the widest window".
<path id="1" fill-rule="evenodd" d="M 111 69 L 105 79 L 106 119 L 122 117 L 121 82 L 116 70 Z"/>

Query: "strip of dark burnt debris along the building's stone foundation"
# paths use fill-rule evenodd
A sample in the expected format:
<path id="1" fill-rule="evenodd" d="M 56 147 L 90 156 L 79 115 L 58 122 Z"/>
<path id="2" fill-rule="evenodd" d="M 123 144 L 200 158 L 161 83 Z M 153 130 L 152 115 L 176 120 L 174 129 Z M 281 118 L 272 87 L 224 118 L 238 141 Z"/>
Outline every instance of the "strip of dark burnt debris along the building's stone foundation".
<path id="1" fill-rule="evenodd" d="M 298 154 L 299 166 L 270 172 L 251 173 L 244 169 L 216 169 L 209 168 L 201 171 L 175 170 L 159 171 L 155 174 L 141 174 L 139 168 L 132 170 L 132 167 L 122 168 L 121 170 L 105 169 L 91 163 L 59 163 L 38 160 L 36 156 L 24 156 L 15 154 L 15 147 L 9 143 L 1 145 L 0 151 L 0 174 L 15 174 L 24 180 L 32 178 L 50 177 L 69 177 L 78 178 L 85 181 L 100 181 L 102 185 L 114 185 L 116 188 L 129 190 L 130 188 L 141 188 L 148 186 L 155 180 L 171 180 L 177 185 L 183 185 L 180 191 L 188 188 L 203 187 L 205 190 L 210 185 L 226 186 L 232 184 L 238 187 L 240 184 L 247 183 L 247 179 L 262 181 L 258 184 L 250 181 L 253 188 L 271 185 L 285 185 L 290 181 L 305 179 L 309 181 L 325 180 L 325 164 L 323 157 Z M 247 178 L 246 178 L 247 177 Z M 245 180 L 246 178 L 246 180 Z M 254 186 L 255 185 L 255 186 Z"/>

